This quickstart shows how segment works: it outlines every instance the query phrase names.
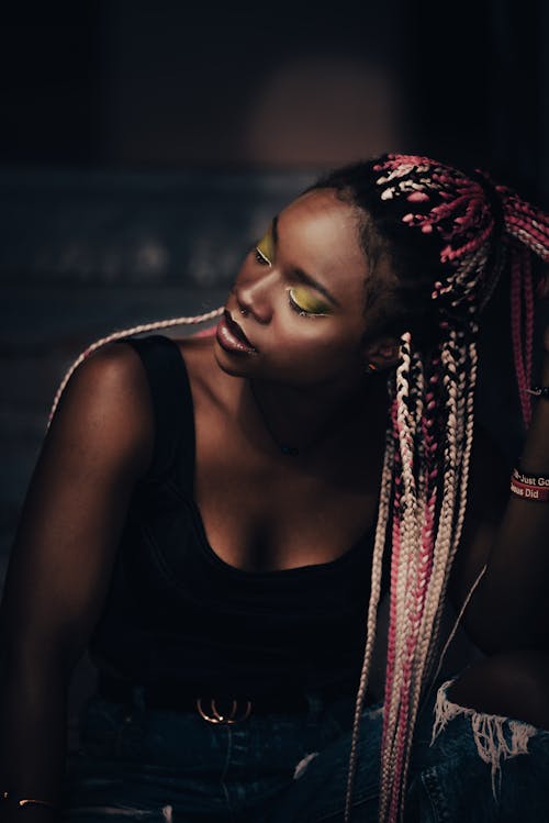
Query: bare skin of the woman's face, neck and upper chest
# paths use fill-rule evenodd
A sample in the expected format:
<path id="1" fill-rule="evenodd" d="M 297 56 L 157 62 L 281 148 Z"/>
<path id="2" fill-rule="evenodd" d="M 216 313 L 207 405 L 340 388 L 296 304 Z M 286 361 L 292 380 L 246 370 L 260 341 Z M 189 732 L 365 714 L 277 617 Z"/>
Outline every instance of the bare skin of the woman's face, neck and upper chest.
<path id="1" fill-rule="evenodd" d="M 211 545 L 247 570 L 335 559 L 371 527 L 386 392 L 383 379 L 365 377 L 365 364 L 381 367 L 396 352 L 394 342 L 382 351 L 361 344 L 367 264 L 351 207 L 332 192 L 306 194 L 279 215 L 278 235 L 269 264 L 250 252 L 227 301 L 257 352 L 181 343 L 195 407 L 197 500 Z M 295 269 L 329 285 L 329 313 L 291 308 Z M 298 458 L 280 454 L 266 419 L 280 442 L 302 447 Z"/>

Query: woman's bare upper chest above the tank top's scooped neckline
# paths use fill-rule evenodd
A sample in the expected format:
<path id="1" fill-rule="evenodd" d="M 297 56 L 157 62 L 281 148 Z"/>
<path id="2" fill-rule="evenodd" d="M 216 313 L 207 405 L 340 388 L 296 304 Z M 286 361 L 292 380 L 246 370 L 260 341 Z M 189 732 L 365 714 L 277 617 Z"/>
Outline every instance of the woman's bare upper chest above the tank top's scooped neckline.
<path id="1" fill-rule="evenodd" d="M 337 559 L 374 525 L 381 457 L 315 464 L 199 443 L 195 501 L 210 545 L 251 571 Z"/>

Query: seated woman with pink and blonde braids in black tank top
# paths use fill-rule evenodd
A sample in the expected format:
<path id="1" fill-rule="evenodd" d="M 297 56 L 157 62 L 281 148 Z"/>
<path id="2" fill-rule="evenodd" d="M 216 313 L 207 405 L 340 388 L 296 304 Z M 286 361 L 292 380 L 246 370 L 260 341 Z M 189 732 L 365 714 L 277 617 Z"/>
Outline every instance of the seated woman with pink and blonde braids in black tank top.
<path id="1" fill-rule="evenodd" d="M 79 358 L 5 585 L 5 820 L 545 820 L 533 254 L 549 219 L 517 194 L 385 155 L 283 209 L 223 310 Z M 528 425 L 511 498 L 473 430 L 479 315 L 505 279 Z M 214 335 L 135 337 L 213 315 Z M 451 687 L 446 596 L 484 654 Z M 98 694 L 63 788 L 86 647 Z"/>

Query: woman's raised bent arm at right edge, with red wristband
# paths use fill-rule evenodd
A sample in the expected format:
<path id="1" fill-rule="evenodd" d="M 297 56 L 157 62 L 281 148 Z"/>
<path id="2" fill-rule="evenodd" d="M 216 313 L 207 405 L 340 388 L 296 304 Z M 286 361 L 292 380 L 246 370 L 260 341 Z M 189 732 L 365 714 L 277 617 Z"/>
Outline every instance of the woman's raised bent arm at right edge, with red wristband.
<path id="1" fill-rule="evenodd" d="M 545 348 L 540 381 L 548 386 L 549 330 Z M 520 466 L 527 474 L 549 476 L 549 400 L 534 401 Z M 460 608 L 475 572 L 488 563 L 464 613 L 463 623 L 471 640 L 488 654 L 547 649 L 549 502 L 511 494 L 511 478 L 501 461 L 484 458 L 474 471 L 470 514 L 450 580 L 450 597 Z M 494 516 L 501 508 L 498 500 L 506 501 L 501 518 Z"/>

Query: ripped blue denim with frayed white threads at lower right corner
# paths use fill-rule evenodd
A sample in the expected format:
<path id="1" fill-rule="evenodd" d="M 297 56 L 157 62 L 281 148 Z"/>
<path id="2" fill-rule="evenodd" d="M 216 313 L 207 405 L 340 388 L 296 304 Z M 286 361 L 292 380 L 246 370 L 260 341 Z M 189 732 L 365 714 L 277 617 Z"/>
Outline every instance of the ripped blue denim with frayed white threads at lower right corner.
<path id="1" fill-rule="evenodd" d="M 549 823 L 549 732 L 452 703 L 451 682 L 419 722 L 406 823 Z"/>

